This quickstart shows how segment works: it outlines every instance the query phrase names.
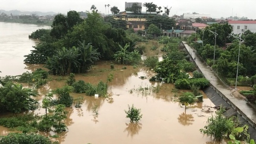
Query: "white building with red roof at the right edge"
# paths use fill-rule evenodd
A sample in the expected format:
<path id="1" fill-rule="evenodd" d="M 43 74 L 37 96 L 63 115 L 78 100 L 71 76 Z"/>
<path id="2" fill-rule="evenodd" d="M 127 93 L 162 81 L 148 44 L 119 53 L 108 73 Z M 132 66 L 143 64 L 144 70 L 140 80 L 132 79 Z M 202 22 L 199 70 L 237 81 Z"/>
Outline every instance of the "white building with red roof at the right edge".
<path id="1" fill-rule="evenodd" d="M 232 26 L 234 34 L 244 33 L 247 30 L 256 32 L 256 20 L 229 20 L 228 24 Z"/>

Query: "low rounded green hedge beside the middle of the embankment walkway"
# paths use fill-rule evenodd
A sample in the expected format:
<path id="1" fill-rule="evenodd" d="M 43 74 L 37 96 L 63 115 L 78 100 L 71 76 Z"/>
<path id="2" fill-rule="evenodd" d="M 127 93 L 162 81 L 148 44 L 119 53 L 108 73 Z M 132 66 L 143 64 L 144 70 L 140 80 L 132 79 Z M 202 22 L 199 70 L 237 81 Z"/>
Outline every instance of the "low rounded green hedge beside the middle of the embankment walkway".
<path id="1" fill-rule="evenodd" d="M 210 85 L 210 82 L 206 78 L 178 79 L 175 81 L 177 89 L 191 89 L 192 85 L 204 89 Z"/>

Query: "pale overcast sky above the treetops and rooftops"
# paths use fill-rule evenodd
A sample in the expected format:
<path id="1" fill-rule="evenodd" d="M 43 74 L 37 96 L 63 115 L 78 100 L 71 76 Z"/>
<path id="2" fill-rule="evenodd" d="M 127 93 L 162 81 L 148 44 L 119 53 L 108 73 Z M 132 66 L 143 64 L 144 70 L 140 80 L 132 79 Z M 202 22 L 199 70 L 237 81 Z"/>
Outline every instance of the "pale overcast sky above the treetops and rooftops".
<path id="1" fill-rule="evenodd" d="M 256 0 L 0 0 L 0 9 L 67 13 L 69 10 L 87 11 L 94 4 L 100 12 L 105 13 L 105 4 L 124 11 L 125 2 L 153 2 L 161 7 L 169 6 L 172 7 L 170 15 L 197 12 L 210 14 L 213 18 L 226 18 L 233 14 L 256 19 Z M 108 7 L 106 11 L 108 13 Z M 142 11 L 145 11 L 145 7 Z"/>

